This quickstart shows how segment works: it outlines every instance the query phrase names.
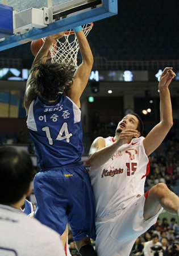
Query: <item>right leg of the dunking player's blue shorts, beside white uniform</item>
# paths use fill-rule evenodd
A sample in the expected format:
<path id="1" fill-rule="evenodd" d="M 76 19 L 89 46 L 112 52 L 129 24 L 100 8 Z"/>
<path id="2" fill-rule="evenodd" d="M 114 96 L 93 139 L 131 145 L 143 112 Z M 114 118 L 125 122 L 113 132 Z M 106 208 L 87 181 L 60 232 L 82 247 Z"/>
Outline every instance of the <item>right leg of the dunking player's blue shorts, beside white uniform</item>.
<path id="1" fill-rule="evenodd" d="M 95 240 L 95 208 L 89 176 L 85 170 L 72 184 L 68 221 L 76 241 L 85 236 Z"/>

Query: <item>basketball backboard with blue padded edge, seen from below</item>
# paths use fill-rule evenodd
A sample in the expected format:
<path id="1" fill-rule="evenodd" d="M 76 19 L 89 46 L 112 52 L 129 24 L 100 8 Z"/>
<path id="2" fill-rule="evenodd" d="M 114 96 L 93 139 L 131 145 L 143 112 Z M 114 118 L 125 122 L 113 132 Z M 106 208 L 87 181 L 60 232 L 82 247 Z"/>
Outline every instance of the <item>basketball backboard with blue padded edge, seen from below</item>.
<path id="1" fill-rule="evenodd" d="M 0 51 L 117 14 L 117 0 L 0 0 L 13 7 L 14 35 Z M 1 31 L 0 31 L 1 32 Z"/>

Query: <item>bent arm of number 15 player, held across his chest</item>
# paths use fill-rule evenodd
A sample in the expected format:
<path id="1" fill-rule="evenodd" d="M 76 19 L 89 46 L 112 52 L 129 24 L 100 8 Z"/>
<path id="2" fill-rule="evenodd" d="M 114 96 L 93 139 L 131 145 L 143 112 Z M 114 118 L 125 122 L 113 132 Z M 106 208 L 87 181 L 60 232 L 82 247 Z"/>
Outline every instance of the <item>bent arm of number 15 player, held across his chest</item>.
<path id="1" fill-rule="evenodd" d="M 127 129 L 120 133 L 116 141 L 106 147 L 105 139 L 98 137 L 91 144 L 89 151 L 89 163 L 91 167 L 98 168 L 105 164 L 125 141 L 138 137 L 138 131 Z"/>

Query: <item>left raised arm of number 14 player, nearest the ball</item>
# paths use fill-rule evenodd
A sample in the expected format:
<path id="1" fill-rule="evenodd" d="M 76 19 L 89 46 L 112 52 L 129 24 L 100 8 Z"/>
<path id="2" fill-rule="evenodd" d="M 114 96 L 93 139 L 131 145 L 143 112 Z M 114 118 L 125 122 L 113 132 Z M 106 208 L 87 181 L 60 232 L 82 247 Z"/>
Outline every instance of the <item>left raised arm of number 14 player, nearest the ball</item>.
<path id="1" fill-rule="evenodd" d="M 45 42 L 43 44 L 43 46 L 40 48 L 40 51 L 38 52 L 38 54 L 35 56 L 35 59 L 32 63 L 32 67 L 38 63 L 38 61 L 43 57 L 43 59 L 41 60 L 42 63 L 45 63 L 47 60 L 47 55 L 48 55 L 48 51 L 49 48 L 51 47 L 52 43 L 59 38 L 62 38 L 64 36 L 65 32 L 60 32 L 57 33 L 55 35 L 51 35 L 51 36 L 47 36 L 47 38 L 45 39 Z M 34 89 L 31 88 L 30 86 L 30 81 L 31 79 L 33 79 L 36 75 L 37 75 L 38 71 L 31 71 L 30 76 L 28 77 L 27 80 L 27 84 L 26 84 L 26 92 L 25 92 L 25 96 L 24 96 L 24 106 L 26 108 L 26 112 L 28 114 L 28 108 L 30 107 L 30 104 L 32 102 L 32 100 L 34 100 L 34 98 L 36 97 L 36 94 L 34 92 Z"/>

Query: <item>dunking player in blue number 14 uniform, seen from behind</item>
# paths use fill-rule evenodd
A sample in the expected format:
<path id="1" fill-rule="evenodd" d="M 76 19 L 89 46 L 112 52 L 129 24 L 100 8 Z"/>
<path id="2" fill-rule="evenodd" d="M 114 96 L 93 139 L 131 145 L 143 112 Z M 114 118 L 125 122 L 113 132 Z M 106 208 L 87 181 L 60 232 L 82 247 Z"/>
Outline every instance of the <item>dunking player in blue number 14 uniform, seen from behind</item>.
<path id="1" fill-rule="evenodd" d="M 82 166 L 80 97 L 88 82 L 93 55 L 81 27 L 76 31 L 82 63 L 74 73 L 73 61 L 46 63 L 49 47 L 64 32 L 47 36 L 32 64 L 24 106 L 27 126 L 35 144 L 40 172 L 34 189 L 35 217 L 55 229 L 66 243 L 69 222 L 81 255 L 97 255 L 95 209 L 88 172 Z"/>

